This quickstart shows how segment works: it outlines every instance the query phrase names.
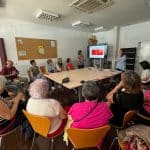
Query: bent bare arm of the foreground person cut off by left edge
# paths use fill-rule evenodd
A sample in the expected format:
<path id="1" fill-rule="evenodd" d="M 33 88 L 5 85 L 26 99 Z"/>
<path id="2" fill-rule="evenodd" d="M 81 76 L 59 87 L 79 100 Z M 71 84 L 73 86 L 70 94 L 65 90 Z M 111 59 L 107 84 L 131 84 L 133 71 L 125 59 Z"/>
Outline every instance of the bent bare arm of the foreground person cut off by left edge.
<path id="1" fill-rule="evenodd" d="M 22 99 L 23 93 L 19 93 L 12 101 L 12 108 L 9 109 L 8 106 L 0 100 L 0 116 L 6 120 L 11 120 L 17 111 L 19 101 Z"/>

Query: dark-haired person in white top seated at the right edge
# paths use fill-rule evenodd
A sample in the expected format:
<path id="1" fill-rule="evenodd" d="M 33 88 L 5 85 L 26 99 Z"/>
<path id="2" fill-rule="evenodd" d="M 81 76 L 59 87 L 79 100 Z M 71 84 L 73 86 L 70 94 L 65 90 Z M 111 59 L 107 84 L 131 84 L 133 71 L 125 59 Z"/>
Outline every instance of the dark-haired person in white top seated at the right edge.
<path id="1" fill-rule="evenodd" d="M 150 84 L 150 64 L 148 61 L 140 62 L 140 65 L 143 69 L 141 74 L 141 80 L 144 85 Z"/>

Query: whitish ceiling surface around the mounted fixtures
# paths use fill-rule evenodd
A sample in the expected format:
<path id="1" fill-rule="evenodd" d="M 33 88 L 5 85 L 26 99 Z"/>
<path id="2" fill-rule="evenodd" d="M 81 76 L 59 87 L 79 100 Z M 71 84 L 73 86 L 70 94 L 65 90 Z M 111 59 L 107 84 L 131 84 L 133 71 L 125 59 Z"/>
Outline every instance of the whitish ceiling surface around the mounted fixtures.
<path id="1" fill-rule="evenodd" d="M 114 0 L 109 8 L 97 10 L 92 14 L 84 13 L 69 6 L 73 0 L 1 0 L 0 18 L 11 18 L 29 21 L 48 26 L 70 28 L 85 32 L 94 32 L 94 28 L 104 26 L 111 29 L 114 26 L 126 26 L 150 20 L 150 7 L 146 0 Z M 58 12 L 61 17 L 52 22 L 36 19 L 37 9 Z M 75 21 L 92 23 L 91 27 L 73 28 Z"/>

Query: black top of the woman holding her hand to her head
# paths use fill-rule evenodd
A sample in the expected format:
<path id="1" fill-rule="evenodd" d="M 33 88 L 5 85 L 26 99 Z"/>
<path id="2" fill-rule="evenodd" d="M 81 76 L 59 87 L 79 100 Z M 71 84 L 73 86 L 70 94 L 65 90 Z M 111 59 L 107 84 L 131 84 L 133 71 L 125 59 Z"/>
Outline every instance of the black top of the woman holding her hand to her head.
<path id="1" fill-rule="evenodd" d="M 111 105 L 111 110 L 114 117 L 111 120 L 111 124 L 121 126 L 126 112 L 143 107 L 144 95 L 142 91 L 138 94 L 119 91 L 113 95 L 113 101 L 114 104 Z"/>

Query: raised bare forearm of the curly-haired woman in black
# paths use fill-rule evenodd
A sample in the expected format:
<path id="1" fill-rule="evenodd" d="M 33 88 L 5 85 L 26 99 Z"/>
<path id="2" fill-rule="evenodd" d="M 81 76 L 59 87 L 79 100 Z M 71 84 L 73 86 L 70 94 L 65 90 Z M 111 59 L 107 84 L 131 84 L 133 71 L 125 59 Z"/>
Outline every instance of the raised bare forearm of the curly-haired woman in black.
<path id="1" fill-rule="evenodd" d="M 113 103 L 113 95 L 117 93 L 123 87 L 122 81 L 119 82 L 107 95 L 106 99 L 108 102 Z"/>

